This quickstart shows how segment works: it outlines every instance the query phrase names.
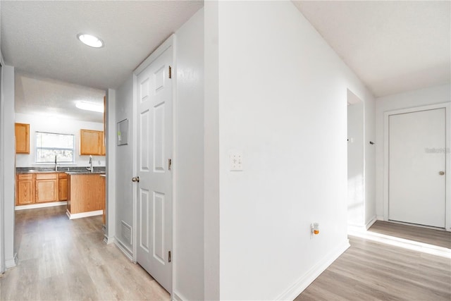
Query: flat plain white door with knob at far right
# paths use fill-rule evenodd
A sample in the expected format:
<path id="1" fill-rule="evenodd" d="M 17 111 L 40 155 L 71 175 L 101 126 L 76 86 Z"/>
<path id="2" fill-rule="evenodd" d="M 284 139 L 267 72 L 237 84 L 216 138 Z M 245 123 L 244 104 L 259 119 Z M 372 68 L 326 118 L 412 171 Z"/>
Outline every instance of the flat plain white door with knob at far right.
<path id="1" fill-rule="evenodd" d="M 390 115 L 388 219 L 445 228 L 445 108 Z"/>

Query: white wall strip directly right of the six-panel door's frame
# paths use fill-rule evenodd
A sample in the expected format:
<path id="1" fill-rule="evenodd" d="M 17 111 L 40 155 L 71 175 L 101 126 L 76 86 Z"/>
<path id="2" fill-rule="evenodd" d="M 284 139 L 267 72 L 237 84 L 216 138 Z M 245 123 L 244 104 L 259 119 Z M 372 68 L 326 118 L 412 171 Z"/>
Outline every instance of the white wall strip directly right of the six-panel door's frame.
<path id="1" fill-rule="evenodd" d="M 204 300 L 204 9 L 175 35 L 173 293 Z"/>

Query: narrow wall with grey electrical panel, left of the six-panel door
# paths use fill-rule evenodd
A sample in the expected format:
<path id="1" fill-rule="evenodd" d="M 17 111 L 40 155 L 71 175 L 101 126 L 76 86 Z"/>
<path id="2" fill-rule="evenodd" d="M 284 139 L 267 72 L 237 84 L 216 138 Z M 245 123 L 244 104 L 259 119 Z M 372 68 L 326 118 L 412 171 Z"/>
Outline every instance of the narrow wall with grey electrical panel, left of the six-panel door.
<path id="1" fill-rule="evenodd" d="M 133 175 L 133 77 L 129 76 L 121 87 L 116 90 L 116 116 L 115 122 L 128 119 L 128 145 L 114 145 L 116 149 L 116 161 L 114 173 L 116 174 L 116 240 L 121 242 L 130 254 L 132 254 L 132 245 L 121 232 L 121 223 L 124 221 L 130 227 L 133 226 L 133 192 L 135 185 L 131 179 Z"/>

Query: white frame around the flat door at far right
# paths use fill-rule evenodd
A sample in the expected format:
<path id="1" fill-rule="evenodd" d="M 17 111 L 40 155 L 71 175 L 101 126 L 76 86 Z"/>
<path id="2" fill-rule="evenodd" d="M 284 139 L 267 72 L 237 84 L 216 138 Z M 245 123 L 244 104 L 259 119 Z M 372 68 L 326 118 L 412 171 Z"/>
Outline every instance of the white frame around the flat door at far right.
<path id="1" fill-rule="evenodd" d="M 395 111 L 386 111 L 383 116 L 383 219 L 388 221 L 388 118 L 390 115 L 400 113 L 413 113 L 417 111 L 426 111 L 432 109 L 445 109 L 445 168 L 447 176 L 451 172 L 451 103 L 431 104 L 428 106 L 414 106 L 412 108 L 398 109 Z M 451 176 L 450 176 L 451 177 Z M 445 230 L 451 231 L 451 181 L 445 180 Z"/>

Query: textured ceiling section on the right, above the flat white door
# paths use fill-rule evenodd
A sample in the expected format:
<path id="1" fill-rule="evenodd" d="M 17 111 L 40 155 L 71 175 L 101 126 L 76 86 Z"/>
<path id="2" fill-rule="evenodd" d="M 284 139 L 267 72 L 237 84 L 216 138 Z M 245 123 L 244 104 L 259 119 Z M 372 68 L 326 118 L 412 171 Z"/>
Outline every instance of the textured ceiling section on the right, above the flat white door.
<path id="1" fill-rule="evenodd" d="M 450 1 L 293 2 L 376 97 L 450 83 Z"/>

